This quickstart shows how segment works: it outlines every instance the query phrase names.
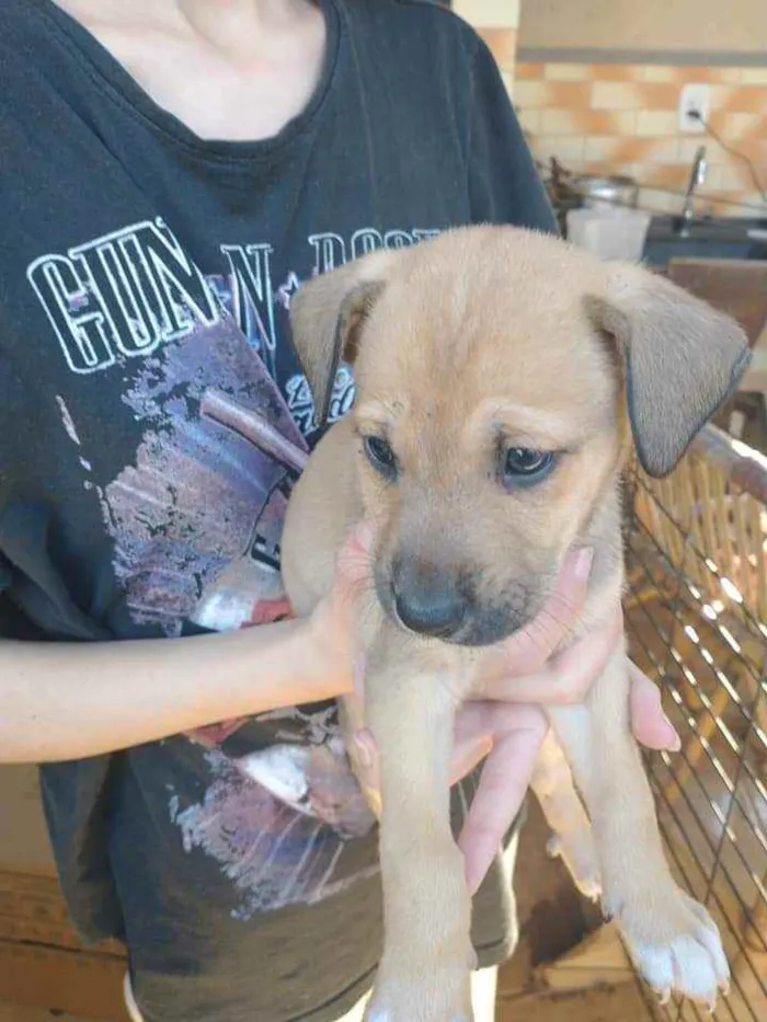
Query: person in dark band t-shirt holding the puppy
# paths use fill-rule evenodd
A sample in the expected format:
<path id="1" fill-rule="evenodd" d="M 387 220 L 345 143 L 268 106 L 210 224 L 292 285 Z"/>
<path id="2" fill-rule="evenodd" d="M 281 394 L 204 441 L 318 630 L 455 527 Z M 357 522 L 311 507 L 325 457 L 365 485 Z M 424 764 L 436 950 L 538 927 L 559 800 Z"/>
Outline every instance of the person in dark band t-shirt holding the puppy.
<path id="1" fill-rule="evenodd" d="M 331 1022 L 380 948 L 334 707 L 369 537 L 293 619 L 279 532 L 319 434 L 290 298 L 551 210 L 489 50 L 426 0 L 5 0 L 3 27 L 0 758 L 44 763 L 70 914 L 126 942 L 136 1018 Z M 331 418 L 353 392 L 342 369 Z M 563 604 L 587 574 L 574 552 Z M 469 870 L 511 852 L 476 902 L 486 968 L 514 943 L 535 703 L 580 700 L 619 619 L 552 661 L 568 622 L 541 616 L 459 720 L 457 826 L 482 757 L 510 777 L 463 843 Z M 641 676 L 633 698 L 638 737 L 673 746 Z"/>

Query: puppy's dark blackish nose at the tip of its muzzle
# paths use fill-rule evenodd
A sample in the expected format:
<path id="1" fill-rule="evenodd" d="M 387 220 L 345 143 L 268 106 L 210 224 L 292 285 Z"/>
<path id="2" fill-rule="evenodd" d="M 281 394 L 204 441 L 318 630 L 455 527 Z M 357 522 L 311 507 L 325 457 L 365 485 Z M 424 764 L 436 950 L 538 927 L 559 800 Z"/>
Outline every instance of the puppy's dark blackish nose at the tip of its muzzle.
<path id="1" fill-rule="evenodd" d="M 466 597 L 448 572 L 420 561 L 400 561 L 391 578 L 394 610 L 411 632 L 448 639 L 466 615 Z"/>

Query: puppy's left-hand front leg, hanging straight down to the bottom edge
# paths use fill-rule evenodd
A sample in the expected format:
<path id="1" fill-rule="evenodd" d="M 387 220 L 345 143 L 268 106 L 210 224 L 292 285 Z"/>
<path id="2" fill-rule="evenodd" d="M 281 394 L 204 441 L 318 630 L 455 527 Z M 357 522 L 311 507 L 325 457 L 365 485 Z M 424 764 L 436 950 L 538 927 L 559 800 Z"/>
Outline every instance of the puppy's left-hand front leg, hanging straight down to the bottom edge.
<path id="1" fill-rule="evenodd" d="M 384 955 L 368 1022 L 470 1022 L 471 902 L 450 830 L 457 681 L 385 624 L 368 652 L 365 716 L 380 755 Z M 451 684 L 453 682 L 453 684 Z"/>

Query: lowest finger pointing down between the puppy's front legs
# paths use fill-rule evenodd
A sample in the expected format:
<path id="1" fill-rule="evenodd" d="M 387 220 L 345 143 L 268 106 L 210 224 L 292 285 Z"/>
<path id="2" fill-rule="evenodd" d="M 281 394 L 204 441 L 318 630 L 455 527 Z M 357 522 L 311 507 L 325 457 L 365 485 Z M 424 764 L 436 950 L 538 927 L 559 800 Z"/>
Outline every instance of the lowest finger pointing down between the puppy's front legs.
<path id="1" fill-rule="evenodd" d="M 548 731 L 540 710 L 515 717 L 511 728 L 495 736 L 482 768 L 458 846 L 466 858 L 466 876 L 473 894 L 522 807 L 533 768 Z"/>

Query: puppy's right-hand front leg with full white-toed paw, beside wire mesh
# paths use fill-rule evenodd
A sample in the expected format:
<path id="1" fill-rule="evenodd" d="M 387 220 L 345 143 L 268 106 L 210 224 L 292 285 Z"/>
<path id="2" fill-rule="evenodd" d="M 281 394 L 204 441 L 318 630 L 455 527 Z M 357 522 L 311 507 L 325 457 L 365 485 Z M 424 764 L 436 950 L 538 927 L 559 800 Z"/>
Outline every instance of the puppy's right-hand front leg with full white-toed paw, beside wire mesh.
<path id="1" fill-rule="evenodd" d="M 674 882 L 650 784 L 629 722 L 628 661 L 621 647 L 586 704 L 550 711 L 594 828 L 603 904 L 615 916 L 644 978 L 713 1003 L 730 971 L 706 909 Z"/>

